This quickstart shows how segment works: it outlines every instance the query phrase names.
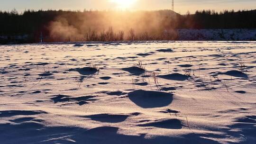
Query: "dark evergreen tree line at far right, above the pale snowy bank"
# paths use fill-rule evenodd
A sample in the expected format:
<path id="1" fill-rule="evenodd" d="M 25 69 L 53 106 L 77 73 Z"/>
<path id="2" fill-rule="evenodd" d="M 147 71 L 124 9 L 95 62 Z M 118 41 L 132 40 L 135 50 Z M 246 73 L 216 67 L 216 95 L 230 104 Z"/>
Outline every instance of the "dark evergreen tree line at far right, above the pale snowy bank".
<path id="1" fill-rule="evenodd" d="M 256 10 L 201 10 L 194 15 L 188 13 L 186 20 L 187 28 L 193 29 L 256 28 Z"/>

